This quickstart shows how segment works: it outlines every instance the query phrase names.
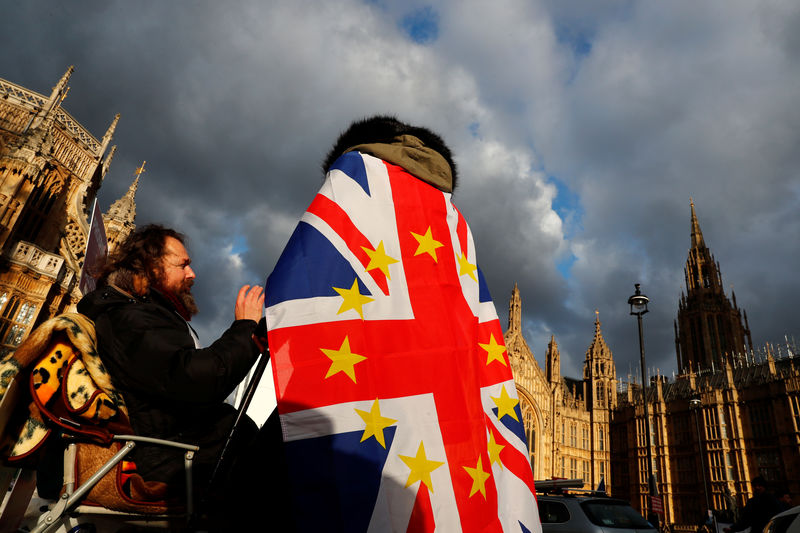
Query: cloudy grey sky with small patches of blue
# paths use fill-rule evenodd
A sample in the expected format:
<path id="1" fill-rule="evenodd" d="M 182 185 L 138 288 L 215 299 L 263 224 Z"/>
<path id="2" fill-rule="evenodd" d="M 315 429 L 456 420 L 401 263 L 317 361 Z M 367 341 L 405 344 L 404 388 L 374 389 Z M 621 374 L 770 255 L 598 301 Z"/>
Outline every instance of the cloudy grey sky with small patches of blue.
<path id="1" fill-rule="evenodd" d="M 581 375 L 600 312 L 617 372 L 676 370 L 689 198 L 757 345 L 800 340 L 800 4 L 459 0 L 17 2 L 0 77 L 96 137 L 121 113 L 103 210 L 147 160 L 137 223 L 174 225 L 205 342 L 263 283 L 320 163 L 375 113 L 439 132 L 503 324 L 518 283 L 540 364 Z"/>

